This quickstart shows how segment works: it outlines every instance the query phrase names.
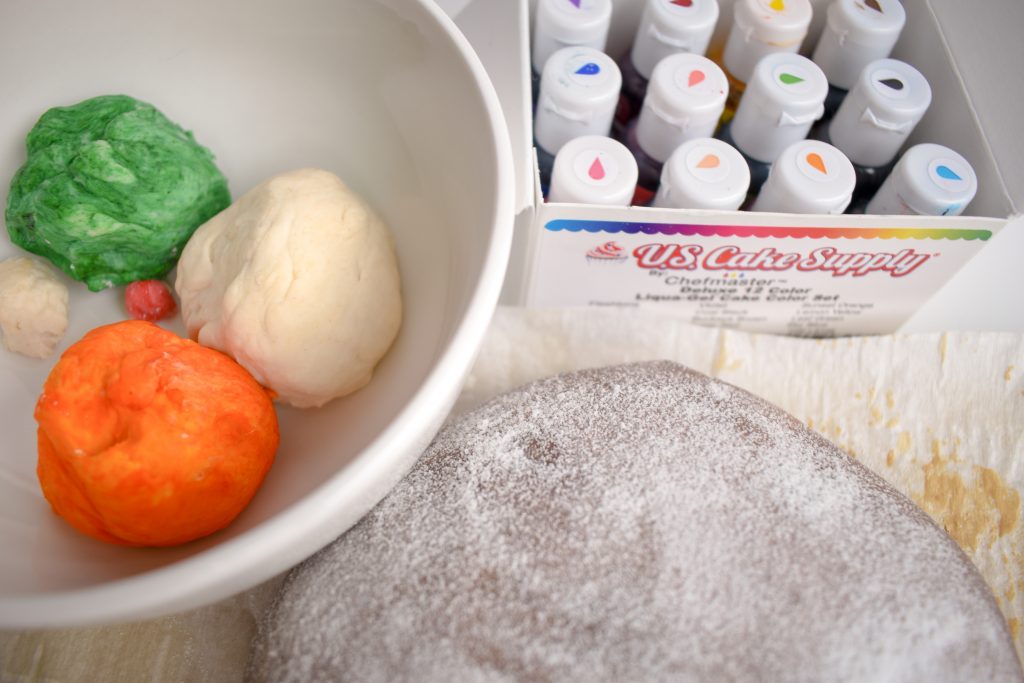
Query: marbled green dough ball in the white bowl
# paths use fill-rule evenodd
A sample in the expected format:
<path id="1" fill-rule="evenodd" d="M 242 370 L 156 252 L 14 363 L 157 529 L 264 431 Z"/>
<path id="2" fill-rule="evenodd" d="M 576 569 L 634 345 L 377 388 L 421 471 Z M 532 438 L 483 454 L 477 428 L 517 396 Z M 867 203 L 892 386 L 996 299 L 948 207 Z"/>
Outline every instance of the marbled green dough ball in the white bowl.
<path id="1" fill-rule="evenodd" d="M 126 95 L 46 112 L 7 198 L 11 241 L 98 291 L 160 278 L 231 202 L 209 150 Z"/>

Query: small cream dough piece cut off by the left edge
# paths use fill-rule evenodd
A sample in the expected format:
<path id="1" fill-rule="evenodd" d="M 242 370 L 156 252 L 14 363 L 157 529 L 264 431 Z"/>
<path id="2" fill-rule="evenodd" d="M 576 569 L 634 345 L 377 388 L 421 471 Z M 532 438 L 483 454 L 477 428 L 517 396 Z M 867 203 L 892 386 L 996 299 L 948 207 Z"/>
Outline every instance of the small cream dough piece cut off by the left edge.
<path id="1" fill-rule="evenodd" d="M 42 261 L 0 261 L 0 330 L 8 350 L 48 358 L 68 330 L 68 287 Z"/>

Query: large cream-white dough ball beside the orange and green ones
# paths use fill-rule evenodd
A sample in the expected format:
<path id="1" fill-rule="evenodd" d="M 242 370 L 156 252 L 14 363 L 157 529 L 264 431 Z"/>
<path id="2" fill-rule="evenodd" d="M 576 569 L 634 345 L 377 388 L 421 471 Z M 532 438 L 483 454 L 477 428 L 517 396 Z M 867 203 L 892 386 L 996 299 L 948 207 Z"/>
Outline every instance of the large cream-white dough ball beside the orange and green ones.
<path id="1" fill-rule="evenodd" d="M 194 339 L 299 408 L 365 386 L 401 325 L 390 231 L 316 169 L 270 178 L 201 225 L 174 288 Z"/>

